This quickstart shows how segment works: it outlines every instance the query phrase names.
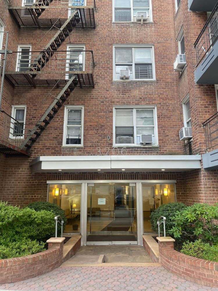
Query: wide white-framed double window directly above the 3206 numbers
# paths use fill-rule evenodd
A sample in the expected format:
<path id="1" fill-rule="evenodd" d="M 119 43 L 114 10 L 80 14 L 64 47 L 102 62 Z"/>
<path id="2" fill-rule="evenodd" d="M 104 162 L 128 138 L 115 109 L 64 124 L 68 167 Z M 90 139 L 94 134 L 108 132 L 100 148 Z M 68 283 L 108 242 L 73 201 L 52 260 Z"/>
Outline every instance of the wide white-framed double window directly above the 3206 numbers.
<path id="1" fill-rule="evenodd" d="M 145 144 L 143 138 L 151 141 Z M 157 107 L 113 106 L 113 145 L 158 145 Z"/>

